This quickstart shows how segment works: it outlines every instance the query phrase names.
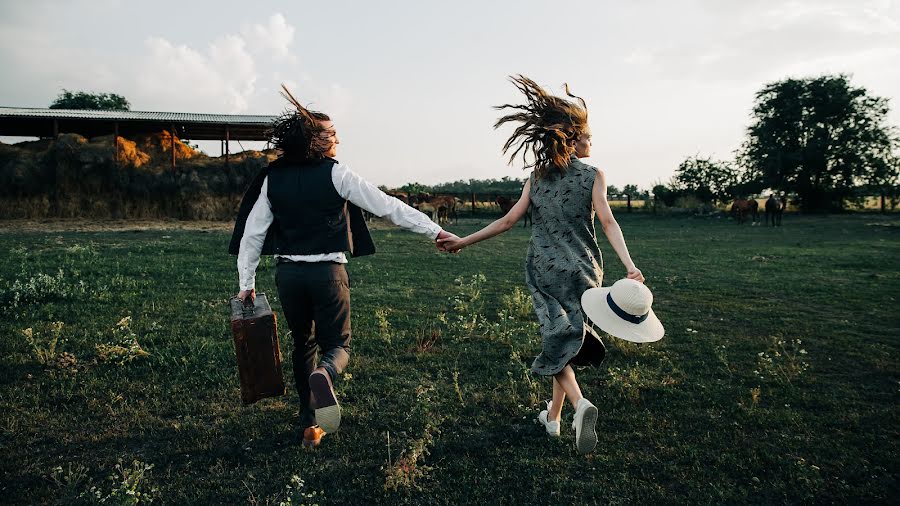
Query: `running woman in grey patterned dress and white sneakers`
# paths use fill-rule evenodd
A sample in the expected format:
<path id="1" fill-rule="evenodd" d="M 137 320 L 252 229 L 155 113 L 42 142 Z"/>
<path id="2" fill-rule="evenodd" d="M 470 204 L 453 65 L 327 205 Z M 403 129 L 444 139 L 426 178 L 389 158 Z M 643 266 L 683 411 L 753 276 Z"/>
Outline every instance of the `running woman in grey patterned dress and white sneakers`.
<path id="1" fill-rule="evenodd" d="M 553 398 L 538 420 L 551 436 L 559 436 L 565 399 L 575 408 L 576 447 L 586 454 L 597 444 L 597 408 L 581 393 L 573 365 L 598 365 L 605 347 L 581 311 L 581 294 L 599 287 L 603 260 L 597 247 L 594 215 L 628 271 L 628 278 L 644 281 L 635 267 L 622 230 L 606 200 L 603 171 L 579 159 L 591 154 L 591 130 L 583 99 L 555 97 L 537 83 L 519 75 L 511 78 L 526 98 L 523 105 L 502 105 L 512 114 L 497 120 L 494 128 L 509 122 L 519 125 L 503 146 L 504 154 L 516 146 L 510 164 L 519 153 L 526 168 L 533 168 L 522 197 L 499 220 L 462 239 L 439 239 L 447 251 L 462 248 L 506 232 L 532 207 L 532 235 L 528 245 L 525 281 L 540 321 L 543 345 L 531 371 L 553 378 Z M 533 156 L 528 163 L 527 154 Z"/>

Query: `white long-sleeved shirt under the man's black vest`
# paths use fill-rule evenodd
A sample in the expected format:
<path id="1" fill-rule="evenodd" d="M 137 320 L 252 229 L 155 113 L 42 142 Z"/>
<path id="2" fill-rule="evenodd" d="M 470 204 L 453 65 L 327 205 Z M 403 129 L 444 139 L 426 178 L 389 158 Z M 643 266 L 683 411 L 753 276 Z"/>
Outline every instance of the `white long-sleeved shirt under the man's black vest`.
<path id="1" fill-rule="evenodd" d="M 441 227 L 431 221 L 428 216 L 387 195 L 344 164 L 336 163 L 331 168 L 331 182 L 341 198 L 349 200 L 379 218 L 387 218 L 397 226 L 425 234 L 432 240 L 441 232 Z M 269 178 L 266 177 L 259 191 L 259 198 L 256 199 L 253 209 L 247 216 L 244 235 L 241 237 L 237 259 L 241 290 L 252 290 L 256 286 L 256 267 L 259 265 L 259 256 L 266 240 L 266 232 L 274 220 L 268 188 Z M 284 258 L 293 262 L 347 263 L 347 256 L 343 251 L 316 255 L 276 255 L 276 258 Z"/>

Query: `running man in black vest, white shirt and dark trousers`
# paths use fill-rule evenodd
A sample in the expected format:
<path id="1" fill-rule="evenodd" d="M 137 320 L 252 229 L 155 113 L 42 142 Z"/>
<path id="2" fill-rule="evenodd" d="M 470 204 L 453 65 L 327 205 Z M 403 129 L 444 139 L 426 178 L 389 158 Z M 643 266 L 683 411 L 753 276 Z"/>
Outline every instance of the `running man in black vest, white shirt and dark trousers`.
<path id="1" fill-rule="evenodd" d="M 294 338 L 303 445 L 314 447 L 341 421 L 334 382 L 350 350 L 344 252 L 375 252 L 360 208 L 432 240 L 455 236 L 335 160 L 340 141 L 331 119 L 307 110 L 287 88 L 283 95 L 296 110 L 273 125 L 270 142 L 280 156 L 244 195 L 229 250 L 238 256 L 242 300 L 255 297 L 260 255 L 275 255 L 275 283 Z"/>

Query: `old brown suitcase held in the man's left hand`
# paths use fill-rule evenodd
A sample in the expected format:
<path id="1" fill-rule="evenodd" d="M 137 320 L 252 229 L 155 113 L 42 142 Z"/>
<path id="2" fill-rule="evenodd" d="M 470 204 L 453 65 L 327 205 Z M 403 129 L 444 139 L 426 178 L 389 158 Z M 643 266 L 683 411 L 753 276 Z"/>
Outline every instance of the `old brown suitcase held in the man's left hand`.
<path id="1" fill-rule="evenodd" d="M 251 404 L 265 397 L 284 395 L 278 326 L 266 294 L 252 304 L 234 297 L 231 304 L 231 333 L 241 377 L 241 399 Z"/>

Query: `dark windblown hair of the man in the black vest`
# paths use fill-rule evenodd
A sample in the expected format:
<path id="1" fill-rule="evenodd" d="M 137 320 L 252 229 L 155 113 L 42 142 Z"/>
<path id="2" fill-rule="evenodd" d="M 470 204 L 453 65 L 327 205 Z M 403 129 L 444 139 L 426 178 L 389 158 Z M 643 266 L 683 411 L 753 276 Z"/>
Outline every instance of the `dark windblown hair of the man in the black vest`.
<path id="1" fill-rule="evenodd" d="M 325 132 L 321 122 L 330 120 L 327 114 L 310 111 L 281 85 L 281 96 L 294 106 L 272 123 L 269 143 L 280 150 L 284 158 L 296 161 L 315 160 L 323 157 L 319 143 L 315 142 Z"/>

